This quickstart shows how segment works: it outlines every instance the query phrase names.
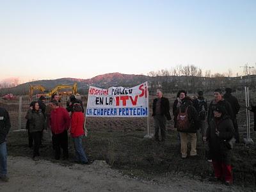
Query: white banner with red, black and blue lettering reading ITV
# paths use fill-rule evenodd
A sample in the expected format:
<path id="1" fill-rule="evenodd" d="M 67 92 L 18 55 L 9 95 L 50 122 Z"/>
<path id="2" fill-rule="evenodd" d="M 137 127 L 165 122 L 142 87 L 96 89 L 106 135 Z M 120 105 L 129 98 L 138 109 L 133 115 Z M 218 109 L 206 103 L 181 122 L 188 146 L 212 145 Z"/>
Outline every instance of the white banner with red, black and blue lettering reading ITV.
<path id="1" fill-rule="evenodd" d="M 147 82 L 132 88 L 112 86 L 108 90 L 90 86 L 86 116 L 148 116 Z"/>

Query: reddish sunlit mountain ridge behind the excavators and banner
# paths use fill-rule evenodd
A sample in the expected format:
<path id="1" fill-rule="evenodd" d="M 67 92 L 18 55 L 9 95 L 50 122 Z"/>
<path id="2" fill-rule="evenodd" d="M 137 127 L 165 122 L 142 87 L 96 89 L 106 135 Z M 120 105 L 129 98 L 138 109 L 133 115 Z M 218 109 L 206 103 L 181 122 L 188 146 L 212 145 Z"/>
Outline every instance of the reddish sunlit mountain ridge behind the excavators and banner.
<path id="1" fill-rule="evenodd" d="M 0 89 L 0 95 L 6 95 L 7 93 L 13 93 L 15 95 L 28 95 L 30 84 L 40 84 L 47 90 L 51 90 L 59 84 L 74 84 L 77 82 L 77 89 L 79 93 L 84 93 L 88 90 L 89 86 L 97 86 L 100 88 L 108 88 L 109 86 L 135 86 L 136 84 L 148 81 L 151 77 L 134 74 L 120 74 L 110 73 L 100 76 L 92 77 L 91 79 L 76 79 L 76 78 L 61 78 L 51 80 L 39 80 L 29 83 L 19 84 L 12 88 Z"/>

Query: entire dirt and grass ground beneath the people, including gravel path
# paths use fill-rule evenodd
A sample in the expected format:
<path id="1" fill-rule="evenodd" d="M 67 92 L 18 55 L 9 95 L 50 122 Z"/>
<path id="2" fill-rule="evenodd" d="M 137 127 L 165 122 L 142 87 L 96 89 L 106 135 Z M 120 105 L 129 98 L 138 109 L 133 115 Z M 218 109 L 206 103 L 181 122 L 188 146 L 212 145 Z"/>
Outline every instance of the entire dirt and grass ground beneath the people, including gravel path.
<path id="1" fill-rule="evenodd" d="M 91 122 L 92 123 L 92 122 Z M 142 128 L 141 128 L 142 129 Z M 196 158 L 181 159 L 174 131 L 164 145 L 144 139 L 144 131 L 89 129 L 83 146 L 92 161 L 72 163 L 74 147 L 69 140 L 70 159 L 56 161 L 45 133 L 40 161 L 31 159 L 27 133 L 10 132 L 8 170 L 10 182 L 0 191 L 255 191 L 255 148 L 236 146 L 233 158 L 234 185 L 209 182 L 213 171 L 198 144 Z M 241 155 L 237 155 L 240 153 Z M 243 162 L 244 161 L 244 162 Z M 106 163 L 102 163 L 106 162 Z"/>

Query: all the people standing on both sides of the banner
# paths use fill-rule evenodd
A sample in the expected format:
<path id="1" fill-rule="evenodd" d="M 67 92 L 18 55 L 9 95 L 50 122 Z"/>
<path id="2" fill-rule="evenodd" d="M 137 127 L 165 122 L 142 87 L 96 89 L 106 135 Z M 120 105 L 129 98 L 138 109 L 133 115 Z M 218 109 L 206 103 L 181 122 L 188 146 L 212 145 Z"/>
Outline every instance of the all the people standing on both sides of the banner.
<path id="1" fill-rule="evenodd" d="M 239 131 L 236 115 L 239 111 L 239 102 L 232 95 L 232 90 L 226 88 L 223 95 L 220 89 L 214 90 L 214 99 L 207 104 L 204 93 L 199 91 L 197 97 L 191 99 L 185 90 L 177 93 L 173 102 L 174 127 L 178 131 L 180 141 L 180 153 L 182 159 L 188 157 L 188 141 L 191 143 L 189 156 L 197 156 L 196 141 L 202 140 L 208 143 L 209 156 L 214 168 L 214 180 L 223 180 L 225 184 L 232 183 L 232 166 L 230 163 L 229 143 L 233 138 L 239 142 Z M 154 139 L 159 143 L 166 140 L 166 120 L 172 120 L 170 115 L 170 102 L 163 97 L 161 90 L 157 90 L 157 98 L 153 102 Z M 256 107 L 251 111 L 256 115 Z M 63 108 L 59 95 L 52 95 L 51 101 L 45 105 L 45 97 L 41 96 L 38 101 L 31 102 L 26 113 L 29 138 L 29 147 L 33 147 L 33 159 L 40 156 L 39 150 L 42 145 L 44 130 L 51 135 L 52 148 L 55 151 L 55 159 L 60 159 L 61 148 L 63 159 L 68 159 L 68 131 L 73 138 L 76 150 L 77 163 L 86 164 L 88 159 L 83 149 L 82 139 L 84 136 L 84 109 L 81 100 L 74 95 L 70 96 L 67 108 Z M 256 124 L 255 124 L 256 125 Z M 254 130 L 256 131 L 256 126 Z M 8 181 L 7 177 L 7 152 L 6 136 L 10 131 L 10 116 L 8 111 L 0 108 L 0 179 Z M 161 140 L 159 137 L 161 133 Z"/>

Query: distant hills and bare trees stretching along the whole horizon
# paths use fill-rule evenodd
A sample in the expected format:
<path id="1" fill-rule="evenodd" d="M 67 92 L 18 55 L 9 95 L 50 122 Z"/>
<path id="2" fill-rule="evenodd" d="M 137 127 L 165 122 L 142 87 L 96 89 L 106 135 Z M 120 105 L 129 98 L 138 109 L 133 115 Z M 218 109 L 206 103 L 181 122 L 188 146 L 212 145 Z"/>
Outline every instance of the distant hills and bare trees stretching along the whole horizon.
<path id="1" fill-rule="evenodd" d="M 155 94 L 157 88 L 161 88 L 164 93 L 177 93 L 180 89 L 184 89 L 189 93 L 195 93 L 198 90 L 204 92 L 213 91 L 216 88 L 230 87 L 234 90 L 242 89 L 244 86 L 256 88 L 256 76 L 241 77 L 196 77 L 196 76 L 143 76 L 134 74 L 110 73 L 92 77 L 91 79 L 61 78 L 52 80 L 40 80 L 29 83 L 19 84 L 12 88 L 0 89 L 0 96 L 7 93 L 14 95 L 28 95 L 29 84 L 40 84 L 47 90 L 51 90 L 59 84 L 74 84 L 77 82 L 77 91 L 81 94 L 88 93 L 89 86 L 97 86 L 99 88 L 109 88 L 110 86 L 132 87 L 140 83 L 148 81 L 148 90 Z"/>

